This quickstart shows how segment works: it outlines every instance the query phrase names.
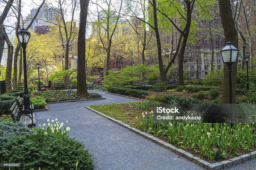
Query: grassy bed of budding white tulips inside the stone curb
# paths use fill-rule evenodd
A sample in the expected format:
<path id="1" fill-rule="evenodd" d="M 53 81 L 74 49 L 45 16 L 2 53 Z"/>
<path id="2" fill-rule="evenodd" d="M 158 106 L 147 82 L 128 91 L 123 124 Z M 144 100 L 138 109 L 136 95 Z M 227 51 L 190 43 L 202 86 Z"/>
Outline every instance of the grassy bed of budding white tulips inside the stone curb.
<path id="1" fill-rule="evenodd" d="M 217 150 L 221 153 L 219 162 L 256 150 L 254 123 L 235 123 L 233 127 L 230 123 L 159 124 L 153 121 L 149 110 L 146 114 L 143 109 L 127 109 L 129 105 L 138 104 L 122 103 L 90 107 L 211 163 L 216 162 L 214 159 Z"/>

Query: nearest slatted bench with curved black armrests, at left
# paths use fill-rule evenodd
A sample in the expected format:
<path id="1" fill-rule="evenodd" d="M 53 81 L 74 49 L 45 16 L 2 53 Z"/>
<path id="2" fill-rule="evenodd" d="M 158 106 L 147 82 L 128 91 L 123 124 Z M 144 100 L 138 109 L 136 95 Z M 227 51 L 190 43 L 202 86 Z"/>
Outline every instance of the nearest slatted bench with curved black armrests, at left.
<path id="1" fill-rule="evenodd" d="M 30 107 L 19 107 L 19 104 L 17 102 L 14 102 L 14 104 L 8 111 L 12 116 L 14 122 L 22 122 L 28 127 L 36 126 L 35 114 Z"/>

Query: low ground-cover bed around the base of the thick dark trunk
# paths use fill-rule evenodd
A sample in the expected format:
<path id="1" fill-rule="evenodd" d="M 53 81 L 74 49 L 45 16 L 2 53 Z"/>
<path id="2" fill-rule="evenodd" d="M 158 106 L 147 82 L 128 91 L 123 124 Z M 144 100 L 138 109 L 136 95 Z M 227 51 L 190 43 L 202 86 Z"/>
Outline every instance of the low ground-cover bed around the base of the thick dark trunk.
<path id="1" fill-rule="evenodd" d="M 56 102 L 56 101 L 67 101 L 67 100 L 79 100 L 83 99 L 77 95 L 74 90 L 44 90 L 36 92 L 35 95 L 41 96 L 46 99 L 46 102 Z M 101 98 L 102 95 L 98 93 L 88 93 L 87 99 L 91 98 Z"/>

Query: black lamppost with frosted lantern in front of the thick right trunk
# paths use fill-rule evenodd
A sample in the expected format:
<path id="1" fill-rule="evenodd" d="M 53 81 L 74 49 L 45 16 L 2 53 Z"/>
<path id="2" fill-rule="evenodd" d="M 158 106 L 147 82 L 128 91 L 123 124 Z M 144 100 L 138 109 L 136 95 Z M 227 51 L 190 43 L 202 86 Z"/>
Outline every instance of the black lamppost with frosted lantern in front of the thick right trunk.
<path id="1" fill-rule="evenodd" d="M 232 64 L 237 61 L 238 49 L 231 44 L 229 41 L 228 44 L 220 50 L 223 63 L 228 65 L 229 72 L 229 109 L 230 109 L 230 119 L 231 119 L 231 128 L 233 126 L 233 108 L 232 108 Z"/>

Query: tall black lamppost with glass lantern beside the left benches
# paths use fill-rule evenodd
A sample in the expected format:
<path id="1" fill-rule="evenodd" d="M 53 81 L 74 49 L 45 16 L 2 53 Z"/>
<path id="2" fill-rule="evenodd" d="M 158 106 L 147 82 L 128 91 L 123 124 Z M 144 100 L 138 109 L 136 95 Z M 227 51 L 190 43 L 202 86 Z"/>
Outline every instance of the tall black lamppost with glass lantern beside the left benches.
<path id="1" fill-rule="evenodd" d="M 30 107 L 29 104 L 29 94 L 28 94 L 28 82 L 27 82 L 27 61 L 26 61 L 26 47 L 27 43 L 30 39 L 30 32 L 28 32 L 25 28 L 22 28 L 20 31 L 17 32 L 17 37 L 19 42 L 22 45 L 23 49 L 23 69 L 24 69 L 24 106 Z"/>

